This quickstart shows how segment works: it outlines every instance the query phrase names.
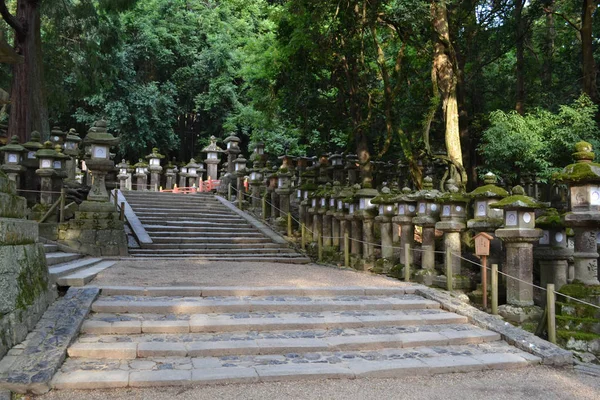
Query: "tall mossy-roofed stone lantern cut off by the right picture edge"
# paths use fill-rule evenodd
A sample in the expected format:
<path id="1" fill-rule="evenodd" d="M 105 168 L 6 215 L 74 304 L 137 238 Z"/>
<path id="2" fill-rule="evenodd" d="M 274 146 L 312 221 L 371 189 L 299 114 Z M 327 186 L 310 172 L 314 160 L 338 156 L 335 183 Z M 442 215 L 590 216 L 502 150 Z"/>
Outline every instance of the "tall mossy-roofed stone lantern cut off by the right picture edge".
<path id="1" fill-rule="evenodd" d="M 592 145 L 579 142 L 575 145 L 575 164 L 568 165 L 555 176 L 571 190 L 571 212 L 564 217 L 565 225 L 575 232 L 575 276 L 585 285 L 599 285 L 597 230 L 600 228 L 600 164 Z"/>

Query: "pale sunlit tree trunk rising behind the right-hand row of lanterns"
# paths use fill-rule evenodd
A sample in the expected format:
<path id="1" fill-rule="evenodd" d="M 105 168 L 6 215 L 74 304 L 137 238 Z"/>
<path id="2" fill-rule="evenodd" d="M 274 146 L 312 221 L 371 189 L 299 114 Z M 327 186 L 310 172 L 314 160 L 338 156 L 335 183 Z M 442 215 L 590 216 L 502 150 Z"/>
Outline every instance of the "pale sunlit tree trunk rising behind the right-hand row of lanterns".
<path id="1" fill-rule="evenodd" d="M 450 42 L 448 12 L 444 0 L 431 3 L 433 28 L 436 33 L 433 69 L 438 88 L 442 96 L 442 108 L 446 121 L 446 149 L 452 162 L 451 177 L 456 182 L 466 185 L 462 150 L 460 145 L 460 128 L 458 124 L 458 103 L 456 99 L 456 73 L 454 50 Z"/>

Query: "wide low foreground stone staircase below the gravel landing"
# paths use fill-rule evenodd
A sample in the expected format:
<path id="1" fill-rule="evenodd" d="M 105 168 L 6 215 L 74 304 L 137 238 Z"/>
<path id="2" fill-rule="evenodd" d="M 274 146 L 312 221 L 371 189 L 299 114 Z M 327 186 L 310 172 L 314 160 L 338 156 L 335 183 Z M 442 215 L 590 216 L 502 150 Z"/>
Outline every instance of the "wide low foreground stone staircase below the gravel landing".
<path id="1" fill-rule="evenodd" d="M 56 389 L 401 377 L 540 358 L 386 288 L 103 288 Z"/>

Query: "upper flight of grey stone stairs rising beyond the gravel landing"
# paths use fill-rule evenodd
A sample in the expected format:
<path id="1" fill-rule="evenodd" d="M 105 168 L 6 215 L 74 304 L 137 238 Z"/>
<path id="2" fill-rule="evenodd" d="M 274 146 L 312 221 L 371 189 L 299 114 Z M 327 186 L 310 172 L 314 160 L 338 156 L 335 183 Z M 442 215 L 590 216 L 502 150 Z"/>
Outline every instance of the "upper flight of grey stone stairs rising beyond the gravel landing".
<path id="1" fill-rule="evenodd" d="M 152 240 L 130 248 L 133 257 L 309 262 L 287 244 L 275 243 L 212 194 L 123 194 Z"/>

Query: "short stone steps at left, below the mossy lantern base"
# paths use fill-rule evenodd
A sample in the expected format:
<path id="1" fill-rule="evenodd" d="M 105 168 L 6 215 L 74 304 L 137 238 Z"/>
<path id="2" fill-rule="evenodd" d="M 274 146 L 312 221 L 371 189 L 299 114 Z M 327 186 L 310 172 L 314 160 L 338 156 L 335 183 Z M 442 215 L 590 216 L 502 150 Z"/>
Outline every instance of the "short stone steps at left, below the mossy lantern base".
<path id="1" fill-rule="evenodd" d="M 56 244 L 44 244 L 44 250 L 50 279 L 59 286 L 85 286 L 98 273 L 116 263 L 102 258 L 59 251 Z"/>

